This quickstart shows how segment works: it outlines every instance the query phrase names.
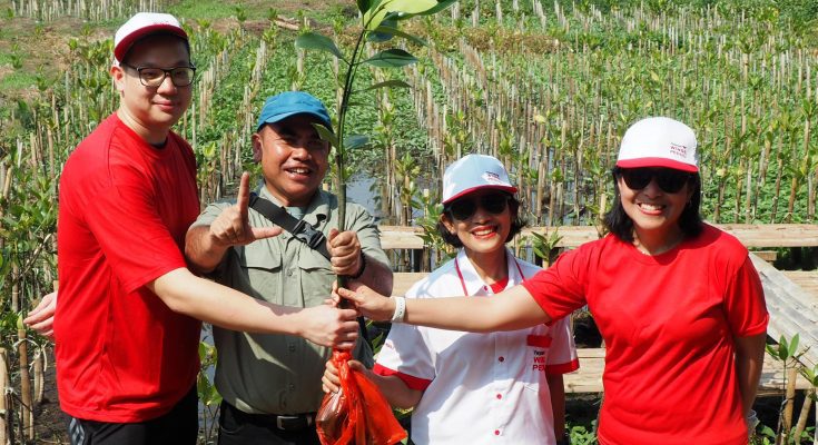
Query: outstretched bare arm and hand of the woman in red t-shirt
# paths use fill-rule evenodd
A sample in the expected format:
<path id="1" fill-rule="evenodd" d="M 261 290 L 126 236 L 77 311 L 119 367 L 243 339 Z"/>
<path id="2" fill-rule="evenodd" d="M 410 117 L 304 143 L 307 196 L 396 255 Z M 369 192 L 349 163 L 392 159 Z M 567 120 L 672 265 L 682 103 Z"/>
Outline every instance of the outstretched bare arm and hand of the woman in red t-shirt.
<path id="1" fill-rule="evenodd" d="M 394 298 L 366 286 L 338 288 L 337 294 L 355 304 L 364 316 L 388 320 L 395 313 Z M 523 286 L 514 286 L 492 298 L 407 298 L 404 323 L 441 329 L 487 333 L 515 330 L 548 323 L 551 317 Z"/>

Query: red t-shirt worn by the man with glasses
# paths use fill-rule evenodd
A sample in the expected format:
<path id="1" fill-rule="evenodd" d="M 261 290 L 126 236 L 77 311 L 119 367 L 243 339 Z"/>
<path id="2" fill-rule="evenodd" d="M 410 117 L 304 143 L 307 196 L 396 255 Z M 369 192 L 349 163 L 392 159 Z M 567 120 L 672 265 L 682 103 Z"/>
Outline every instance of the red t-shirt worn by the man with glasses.
<path id="1" fill-rule="evenodd" d="M 200 323 L 145 285 L 186 266 L 180 249 L 198 212 L 196 160 L 175 134 L 157 149 L 114 113 L 69 157 L 55 315 L 57 385 L 69 415 L 144 422 L 195 384 Z"/>

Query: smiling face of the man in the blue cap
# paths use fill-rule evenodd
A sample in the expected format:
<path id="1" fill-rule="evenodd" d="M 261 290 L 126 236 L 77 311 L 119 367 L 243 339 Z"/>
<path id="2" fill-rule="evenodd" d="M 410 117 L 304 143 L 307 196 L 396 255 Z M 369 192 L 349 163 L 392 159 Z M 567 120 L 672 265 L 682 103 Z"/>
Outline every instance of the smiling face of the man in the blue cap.
<path id="1" fill-rule="evenodd" d="M 253 156 L 262 162 L 267 190 L 286 207 L 305 207 L 328 167 L 329 142 L 313 127 L 318 120 L 295 115 L 253 135 Z"/>

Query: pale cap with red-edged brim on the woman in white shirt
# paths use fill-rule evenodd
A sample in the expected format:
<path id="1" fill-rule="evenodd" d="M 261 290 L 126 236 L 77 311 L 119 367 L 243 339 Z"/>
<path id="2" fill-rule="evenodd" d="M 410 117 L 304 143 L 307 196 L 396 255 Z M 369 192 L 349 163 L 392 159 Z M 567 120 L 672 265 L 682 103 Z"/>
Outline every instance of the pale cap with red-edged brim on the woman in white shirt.
<path id="1" fill-rule="evenodd" d="M 456 160 L 443 174 L 443 204 L 481 188 L 516 192 L 503 164 L 493 156 L 467 155 Z"/>

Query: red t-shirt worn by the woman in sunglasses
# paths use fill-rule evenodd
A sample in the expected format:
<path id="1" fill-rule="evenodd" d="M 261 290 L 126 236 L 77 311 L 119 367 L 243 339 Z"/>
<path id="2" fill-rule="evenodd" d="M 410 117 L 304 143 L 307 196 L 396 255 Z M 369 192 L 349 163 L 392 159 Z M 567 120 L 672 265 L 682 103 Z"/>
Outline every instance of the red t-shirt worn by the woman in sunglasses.
<path id="1" fill-rule="evenodd" d="M 658 256 L 609 235 L 523 286 L 552 318 L 588 304 L 605 340 L 604 445 L 746 445 L 733 337 L 765 333 L 758 273 L 706 226 Z"/>

